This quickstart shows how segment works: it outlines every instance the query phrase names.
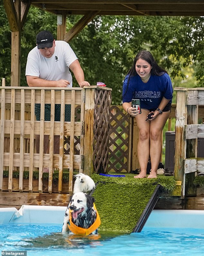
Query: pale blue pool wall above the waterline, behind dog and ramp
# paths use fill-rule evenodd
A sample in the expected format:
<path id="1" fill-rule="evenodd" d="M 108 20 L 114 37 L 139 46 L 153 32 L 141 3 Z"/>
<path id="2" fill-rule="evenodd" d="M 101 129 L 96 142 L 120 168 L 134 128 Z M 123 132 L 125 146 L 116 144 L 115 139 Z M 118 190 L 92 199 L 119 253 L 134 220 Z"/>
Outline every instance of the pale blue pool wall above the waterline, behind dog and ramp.
<path id="1" fill-rule="evenodd" d="M 62 206 L 23 205 L 19 210 L 0 208 L 0 224 L 62 225 L 65 210 L 66 207 Z M 144 226 L 148 227 L 204 229 L 204 210 L 153 210 Z"/>

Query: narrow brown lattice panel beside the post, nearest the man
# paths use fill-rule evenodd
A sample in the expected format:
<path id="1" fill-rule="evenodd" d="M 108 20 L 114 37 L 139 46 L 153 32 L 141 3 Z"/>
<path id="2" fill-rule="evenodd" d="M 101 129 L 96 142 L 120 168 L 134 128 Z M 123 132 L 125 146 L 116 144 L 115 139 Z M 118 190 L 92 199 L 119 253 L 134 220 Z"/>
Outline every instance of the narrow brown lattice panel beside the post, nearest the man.
<path id="1" fill-rule="evenodd" d="M 111 91 L 97 91 L 94 107 L 93 163 L 97 173 L 108 171 Z"/>

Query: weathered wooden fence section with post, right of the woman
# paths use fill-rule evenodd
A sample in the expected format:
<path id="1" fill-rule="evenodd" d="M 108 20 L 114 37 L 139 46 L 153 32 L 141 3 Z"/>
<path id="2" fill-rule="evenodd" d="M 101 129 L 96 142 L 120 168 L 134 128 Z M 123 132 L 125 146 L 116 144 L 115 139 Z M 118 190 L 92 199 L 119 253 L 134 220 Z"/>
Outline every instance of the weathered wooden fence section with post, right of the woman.
<path id="1" fill-rule="evenodd" d="M 174 90 L 177 91 L 174 173 L 176 180 L 182 182 L 181 196 L 194 196 L 193 179 L 204 169 L 204 159 L 197 158 L 198 138 L 204 138 L 204 124 L 198 122 L 199 106 L 204 104 L 204 88 Z M 188 184 L 185 187 L 186 175 Z"/>

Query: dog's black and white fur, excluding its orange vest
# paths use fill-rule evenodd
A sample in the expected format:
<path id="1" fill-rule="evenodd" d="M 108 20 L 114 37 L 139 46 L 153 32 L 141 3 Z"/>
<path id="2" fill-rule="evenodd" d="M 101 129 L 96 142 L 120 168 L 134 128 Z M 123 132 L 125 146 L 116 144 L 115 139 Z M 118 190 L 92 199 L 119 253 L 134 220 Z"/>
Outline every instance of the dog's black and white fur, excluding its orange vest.
<path id="1" fill-rule="evenodd" d="M 88 175 L 83 173 L 79 173 L 75 177 L 73 195 L 70 197 L 70 202 L 65 211 L 62 233 L 69 232 L 73 234 L 67 225 L 70 218 L 69 210 L 73 211 L 72 222 L 78 227 L 87 229 L 96 220 L 96 211 L 93 207 L 95 199 L 87 194 L 95 188 L 95 183 Z M 97 229 L 92 232 L 92 234 L 97 233 Z"/>

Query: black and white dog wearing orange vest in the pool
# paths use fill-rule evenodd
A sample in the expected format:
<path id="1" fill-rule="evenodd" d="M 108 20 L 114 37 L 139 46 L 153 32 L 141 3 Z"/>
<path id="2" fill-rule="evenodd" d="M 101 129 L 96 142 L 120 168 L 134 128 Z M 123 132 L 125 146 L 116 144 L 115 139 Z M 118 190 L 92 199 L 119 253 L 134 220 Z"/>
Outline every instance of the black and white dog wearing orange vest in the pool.
<path id="1" fill-rule="evenodd" d="M 86 194 L 95 189 L 94 181 L 85 174 L 77 174 L 73 195 L 67 206 L 62 226 L 62 233 L 97 234 L 100 217 L 94 204 L 94 197 Z"/>

